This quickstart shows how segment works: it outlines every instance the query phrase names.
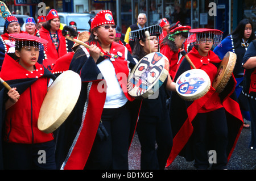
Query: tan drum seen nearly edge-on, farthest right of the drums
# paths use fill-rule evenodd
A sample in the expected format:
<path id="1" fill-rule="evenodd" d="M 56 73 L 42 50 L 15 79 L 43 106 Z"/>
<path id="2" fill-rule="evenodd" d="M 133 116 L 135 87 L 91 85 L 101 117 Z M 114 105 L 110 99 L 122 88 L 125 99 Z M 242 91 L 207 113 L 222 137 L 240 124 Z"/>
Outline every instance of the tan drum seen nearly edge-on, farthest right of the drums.
<path id="1" fill-rule="evenodd" d="M 213 81 L 213 88 L 220 93 L 226 87 L 236 65 L 237 55 L 233 52 L 228 52 L 223 57 L 220 66 L 218 67 L 216 77 Z"/>

